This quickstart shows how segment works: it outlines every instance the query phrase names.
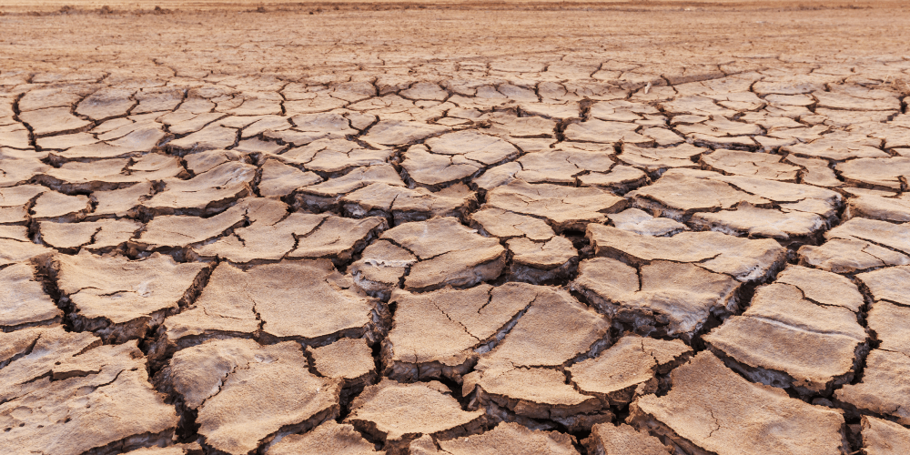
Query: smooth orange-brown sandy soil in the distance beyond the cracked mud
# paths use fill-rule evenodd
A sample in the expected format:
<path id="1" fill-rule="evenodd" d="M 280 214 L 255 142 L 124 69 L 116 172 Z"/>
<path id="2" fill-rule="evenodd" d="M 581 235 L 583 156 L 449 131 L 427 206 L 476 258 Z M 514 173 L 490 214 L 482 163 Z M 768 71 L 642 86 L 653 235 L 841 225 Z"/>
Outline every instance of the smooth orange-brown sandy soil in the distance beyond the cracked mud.
<path id="1" fill-rule="evenodd" d="M 190 57 L 193 67 L 206 70 L 292 76 L 326 65 L 397 65 L 481 56 L 547 59 L 547 53 L 561 56 L 565 51 L 696 65 L 726 63 L 733 57 L 761 65 L 763 58 L 836 62 L 907 54 L 908 12 L 899 2 L 878 2 L 870 9 L 830 2 L 560 4 L 565 9 L 558 10 L 552 10 L 556 7 L 552 4 L 530 4 L 531 10 L 545 8 L 536 12 L 506 6 L 490 12 L 482 5 L 468 10 L 430 5 L 419 10 L 416 6 L 403 9 L 401 4 L 389 6 L 394 8 L 391 11 L 336 12 L 327 4 L 319 13 L 319 6 L 306 4 L 267 15 L 227 11 L 234 5 L 227 4 L 220 12 L 178 15 L 96 15 L 77 10 L 31 16 L 25 13 L 29 8 L 9 8 L 11 12 L 0 18 L 0 56 L 8 69 L 40 70 L 32 67 L 40 62 L 48 68 L 94 62 L 99 70 L 113 71 L 119 66 L 148 67 L 155 61 L 166 64 Z M 145 11 L 153 7 L 142 6 Z M 201 56 L 225 65 L 207 68 L 207 62 L 197 58 Z"/>

